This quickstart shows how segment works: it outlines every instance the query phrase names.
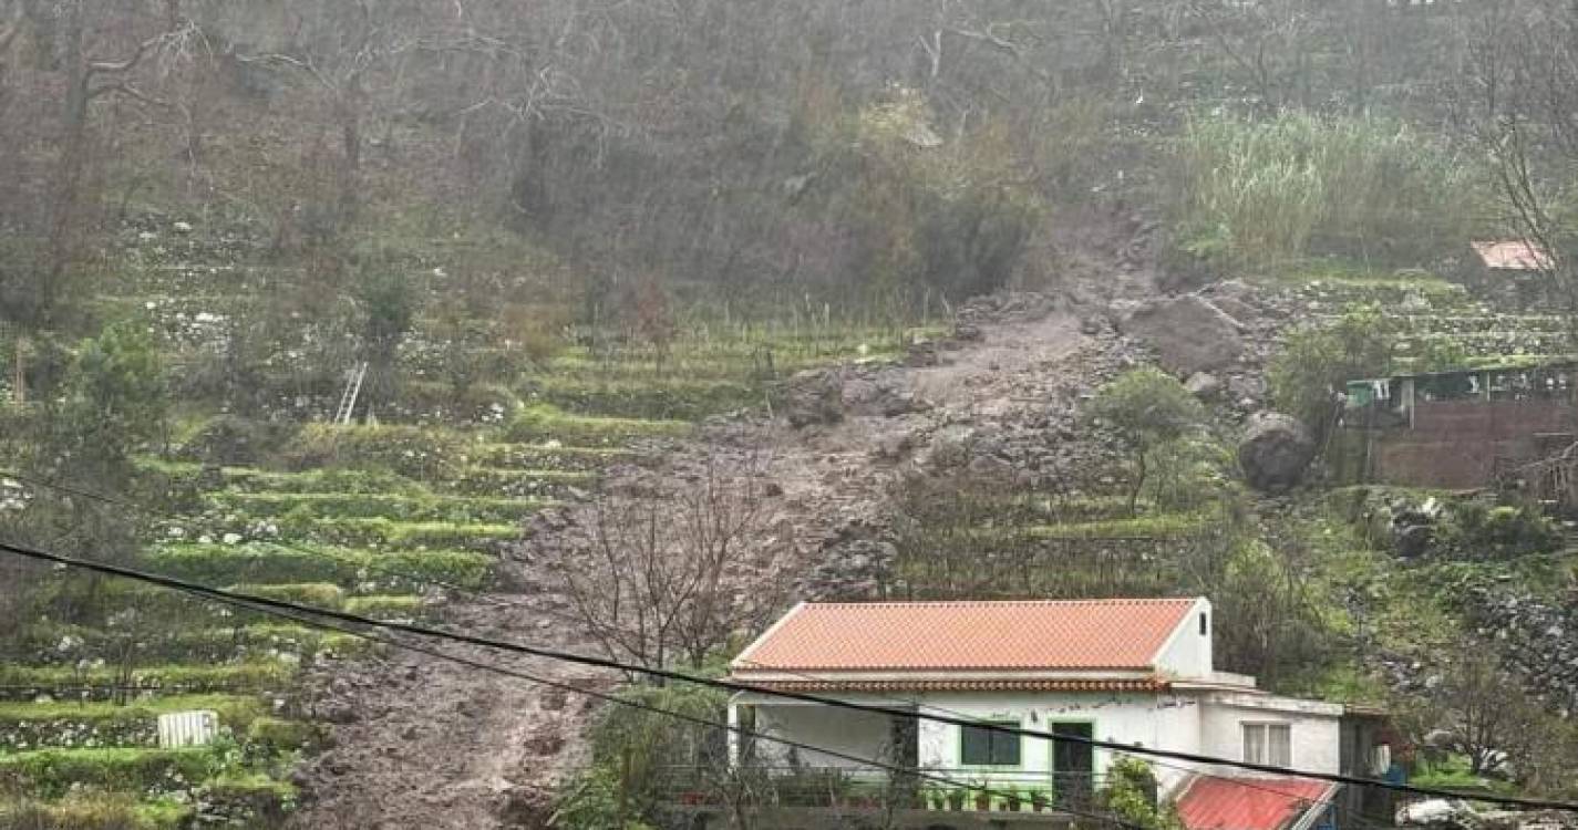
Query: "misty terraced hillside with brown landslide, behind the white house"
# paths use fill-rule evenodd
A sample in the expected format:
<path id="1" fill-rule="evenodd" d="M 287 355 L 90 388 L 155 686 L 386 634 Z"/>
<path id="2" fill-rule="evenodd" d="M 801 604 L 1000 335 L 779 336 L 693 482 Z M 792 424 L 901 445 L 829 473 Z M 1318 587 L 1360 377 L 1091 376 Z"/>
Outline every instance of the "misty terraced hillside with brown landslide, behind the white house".
<path id="1" fill-rule="evenodd" d="M 808 600 L 1207 596 L 1409 783 L 1578 798 L 1570 415 L 1359 413 L 1569 391 L 1575 57 L 1557 0 L 0 0 L 0 543 L 361 620 L 0 554 L 0 830 L 778 803 L 641 669 Z"/>

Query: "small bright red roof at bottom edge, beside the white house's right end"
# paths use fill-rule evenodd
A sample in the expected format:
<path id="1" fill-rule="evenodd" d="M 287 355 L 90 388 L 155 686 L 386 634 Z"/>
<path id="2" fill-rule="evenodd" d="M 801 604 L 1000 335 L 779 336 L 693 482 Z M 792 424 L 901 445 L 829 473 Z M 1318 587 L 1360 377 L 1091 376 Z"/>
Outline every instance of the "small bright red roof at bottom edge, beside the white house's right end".
<path id="1" fill-rule="evenodd" d="M 1283 830 L 1327 802 L 1337 784 L 1305 778 L 1199 776 L 1177 802 L 1188 830 Z"/>

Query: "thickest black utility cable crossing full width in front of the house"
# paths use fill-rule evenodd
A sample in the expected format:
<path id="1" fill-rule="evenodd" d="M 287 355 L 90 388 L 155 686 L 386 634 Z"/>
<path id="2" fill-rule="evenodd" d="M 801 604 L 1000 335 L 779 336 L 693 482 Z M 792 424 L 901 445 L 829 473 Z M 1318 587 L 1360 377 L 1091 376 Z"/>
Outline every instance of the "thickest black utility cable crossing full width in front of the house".
<path id="1" fill-rule="evenodd" d="M 598 669 L 615 669 L 615 671 L 623 671 L 623 672 L 644 674 L 644 675 L 650 675 L 650 677 L 660 677 L 660 679 L 664 679 L 664 680 L 674 680 L 674 682 L 682 682 L 682 683 L 694 683 L 694 685 L 710 686 L 710 688 L 718 688 L 718 690 L 726 690 L 726 691 L 745 691 L 745 693 L 764 694 L 764 696 L 768 696 L 768 697 L 781 697 L 781 699 L 786 699 L 786 701 L 800 701 L 800 702 L 806 702 L 806 704 L 817 704 L 817 705 L 825 705 L 825 707 L 832 707 L 832 708 L 843 708 L 843 710 L 849 710 L 849 712 L 866 712 L 866 713 L 873 713 L 873 715 L 887 715 L 887 716 L 899 716 L 899 718 L 917 718 L 917 720 L 925 720 L 925 721 L 931 721 L 931 723 L 942 723 L 942 724 L 961 726 L 961 727 L 966 727 L 966 726 L 967 727 L 980 727 L 980 729 L 988 729 L 988 731 L 993 731 L 993 732 L 997 732 L 997 734 L 1004 734 L 1004 735 L 1018 735 L 1018 737 L 1030 737 L 1030 738 L 1045 738 L 1046 737 L 1045 732 L 1032 732 L 1029 729 L 1018 729 L 1018 727 L 1008 727 L 1008 726 L 978 724 L 978 723 L 974 723 L 974 721 L 966 720 L 966 718 L 953 718 L 953 716 L 945 716 L 945 715 L 917 715 L 914 712 L 907 712 L 907 710 L 903 710 L 903 708 L 879 707 L 879 705 L 869 705 L 869 704 L 855 704 L 855 702 L 849 702 L 849 701 L 839 701 L 836 697 L 822 697 L 822 696 L 817 696 L 817 694 L 805 694 L 805 693 L 798 693 L 798 691 L 764 688 L 764 686 L 756 686 L 756 685 L 751 685 L 751 683 L 740 683 L 740 682 L 734 682 L 734 680 L 720 680 L 720 679 L 710 679 L 710 677 L 697 677 L 697 675 L 693 675 L 693 674 L 677 672 L 677 671 L 672 671 L 672 669 L 658 669 L 658 667 L 650 667 L 650 666 L 636 666 L 636 664 L 622 663 L 622 661 L 617 661 L 617 660 L 601 658 L 601 656 L 595 656 L 595 655 L 581 655 L 581 653 L 574 653 L 574 652 L 565 652 L 565 650 L 560 650 L 560 649 L 548 649 L 548 647 L 540 647 L 540 645 L 525 645 L 525 644 L 519 644 L 519 642 L 497 641 L 497 639 L 480 637 L 480 636 L 473 636 L 473 634 L 462 634 L 459 631 L 445 631 L 445 630 L 439 630 L 439 628 L 428 628 L 428 626 L 421 626 L 421 625 L 415 625 L 415 623 L 380 622 L 380 620 L 374 620 L 374 619 L 369 619 L 369 617 L 361 617 L 361 615 L 357 615 L 357 614 L 347 614 L 344 611 L 316 609 L 316 608 L 311 608 L 311 606 L 303 606 L 303 604 L 298 604 L 298 603 L 289 603 L 289 601 L 284 601 L 284 600 L 271 600 L 271 598 L 267 598 L 267 596 L 254 596 L 254 595 L 246 595 L 246 593 L 237 593 L 237 592 L 227 592 L 227 590 L 211 589 L 211 587 L 200 585 L 200 584 L 196 584 L 196 582 L 188 582 L 188 581 L 183 581 L 183 579 L 174 579 L 174 578 L 169 578 L 169 576 L 161 576 L 161 574 L 155 574 L 155 573 L 139 571 L 139 570 L 134 570 L 134 568 L 125 568 L 125 566 L 120 566 L 120 565 L 106 565 L 106 563 L 90 562 L 90 560 L 76 559 L 76 557 L 66 557 L 66 555 L 60 555 L 60 554 L 50 554 L 50 552 L 39 551 L 39 549 L 28 548 L 28 546 L 22 546 L 22 544 L 0 543 L 0 551 L 6 551 L 6 552 L 11 552 L 11 554 L 16 554 L 16 555 L 21 555 L 21 557 L 35 559 L 35 560 L 41 560 L 41 562 L 54 562 L 57 565 L 66 565 L 66 566 L 73 566 L 73 568 L 96 571 L 96 573 L 109 574 L 109 576 L 122 576 L 122 578 L 128 578 L 128 579 L 134 579 L 134 581 L 140 581 L 140 582 L 148 582 L 148 584 L 153 584 L 153 585 L 163 585 L 163 587 L 167 587 L 167 589 L 181 590 L 181 592 L 186 592 L 186 593 L 208 596 L 208 598 L 221 600 L 221 601 L 222 600 L 234 600 L 234 601 L 246 603 L 246 604 L 251 604 L 251 606 L 316 614 L 316 615 L 323 617 L 323 619 L 347 622 L 347 623 L 352 623 L 352 625 L 365 625 L 365 626 L 380 628 L 380 630 L 387 630 L 387 631 L 401 631 L 401 633 L 417 634 L 417 636 L 423 636 L 423 637 L 434 637 L 434 639 L 443 639 L 443 641 L 451 641 L 451 642 L 461 642 L 461 644 L 466 644 L 466 645 L 480 645 L 480 647 L 484 647 L 484 649 L 495 649 L 495 650 L 502 650 L 502 652 L 522 653 L 522 655 L 540 656 L 540 658 L 546 658 L 546 660 L 557 660 L 557 661 L 563 661 L 563 663 L 576 663 L 576 664 L 581 664 L 581 666 L 592 666 L 592 667 L 598 667 Z M 1294 770 L 1294 768 L 1288 768 L 1288 767 L 1277 767 L 1277 765 L 1272 765 L 1272 764 L 1255 764 L 1255 762 L 1248 762 L 1248 761 L 1232 761 L 1232 759 L 1226 759 L 1226 757 L 1215 757 L 1215 756 L 1206 756 L 1206 754 L 1198 754 L 1198 753 L 1184 753 L 1184 751 L 1176 751 L 1176 750 L 1158 750 L 1158 748 L 1149 748 L 1149 746 L 1128 746 L 1128 745 L 1122 745 L 1122 743 L 1116 743 L 1116 742 L 1108 742 L 1108 740 L 1086 738 L 1083 735 L 1065 735 L 1064 740 L 1068 740 L 1071 743 L 1089 745 L 1089 746 L 1097 748 L 1097 750 L 1109 750 L 1109 751 L 1127 753 L 1127 754 L 1138 754 L 1138 756 L 1147 756 L 1147 757 L 1163 757 L 1163 759 L 1184 761 L 1184 762 L 1191 762 L 1191 764 L 1212 764 L 1212 765 L 1218 765 L 1218 767 L 1236 767 L 1236 768 L 1243 768 L 1243 770 L 1251 770 L 1251 772 L 1261 772 L 1261 773 L 1270 773 L 1270 775 L 1284 775 L 1284 776 L 1292 776 L 1292 778 L 1308 778 L 1308 780 L 1313 780 L 1313 781 L 1330 781 L 1330 783 L 1335 783 L 1335 784 L 1354 784 L 1354 786 L 1363 786 L 1363 787 L 1389 789 L 1389 791 L 1395 791 L 1395 792 L 1406 792 L 1406 794 L 1411 794 L 1411 795 L 1430 795 L 1430 797 L 1442 797 L 1442 798 L 1469 798 L 1469 800 L 1475 800 L 1475 802 L 1498 803 L 1498 805 L 1507 805 L 1507 806 L 1521 806 L 1521 808 L 1528 808 L 1528 809 L 1557 809 L 1557 811 L 1578 813 L 1578 803 L 1572 803 L 1572 802 L 1556 802 L 1556 800 L 1545 800 L 1545 798 L 1520 798 L 1520 797 L 1491 795 L 1491 794 L 1471 794 L 1471 792 L 1456 792 L 1456 791 L 1438 789 L 1438 787 L 1417 787 L 1417 786 L 1411 786 L 1411 784 L 1395 784 L 1395 783 L 1390 783 L 1390 781 L 1371 781 L 1371 780 L 1367 780 L 1367 778 L 1357 778 L 1357 776 L 1351 776 L 1351 775 L 1324 773 L 1324 772 L 1313 772 L 1313 770 Z"/>

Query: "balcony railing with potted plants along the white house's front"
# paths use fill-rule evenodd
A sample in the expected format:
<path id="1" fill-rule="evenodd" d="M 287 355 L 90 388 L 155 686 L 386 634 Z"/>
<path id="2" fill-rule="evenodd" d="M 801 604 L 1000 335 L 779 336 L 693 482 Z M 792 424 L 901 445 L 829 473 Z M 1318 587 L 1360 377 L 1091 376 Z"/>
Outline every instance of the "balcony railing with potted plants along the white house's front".
<path id="1" fill-rule="evenodd" d="M 667 791 L 683 808 L 748 802 L 762 808 L 934 813 L 1094 813 L 1103 776 L 1002 768 L 926 768 L 890 775 L 858 767 L 759 767 L 729 775 L 675 768 Z"/>

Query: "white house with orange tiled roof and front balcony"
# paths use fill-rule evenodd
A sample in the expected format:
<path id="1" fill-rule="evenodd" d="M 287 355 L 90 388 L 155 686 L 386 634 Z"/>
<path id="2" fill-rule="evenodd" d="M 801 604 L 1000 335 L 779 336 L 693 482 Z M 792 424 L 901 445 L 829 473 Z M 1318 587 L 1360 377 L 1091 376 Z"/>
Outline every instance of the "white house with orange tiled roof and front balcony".
<path id="1" fill-rule="evenodd" d="M 732 699 L 729 718 L 841 756 L 920 767 L 991 787 L 1045 787 L 1059 798 L 1100 787 L 1117 753 L 1051 740 L 1056 735 L 1340 772 L 1343 707 L 1278 697 L 1258 690 L 1253 677 L 1215 671 L 1213 625 L 1204 598 L 805 603 L 735 658 L 732 680 L 1007 724 L 1045 732 L 1048 740 L 754 691 Z M 791 754 L 767 740 L 742 745 L 735 738 L 734 753 L 735 759 L 750 753 L 753 762 L 770 768 L 794 761 L 851 776 L 881 775 L 849 757 Z M 1207 817 L 1210 805 L 1187 803 L 1196 780 L 1220 783 L 1245 775 L 1172 761 L 1152 768 L 1163 798 L 1193 806 L 1185 816 Z M 1266 781 L 1247 786 L 1275 792 Z M 1326 784 L 1297 792 L 1300 803 L 1311 794 L 1322 803 L 1335 797 Z M 1289 814 L 1283 825 L 1302 822 L 1303 811 L 1294 813 L 1299 816 Z M 1201 827 L 1226 824 L 1202 819 Z"/>

